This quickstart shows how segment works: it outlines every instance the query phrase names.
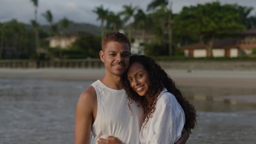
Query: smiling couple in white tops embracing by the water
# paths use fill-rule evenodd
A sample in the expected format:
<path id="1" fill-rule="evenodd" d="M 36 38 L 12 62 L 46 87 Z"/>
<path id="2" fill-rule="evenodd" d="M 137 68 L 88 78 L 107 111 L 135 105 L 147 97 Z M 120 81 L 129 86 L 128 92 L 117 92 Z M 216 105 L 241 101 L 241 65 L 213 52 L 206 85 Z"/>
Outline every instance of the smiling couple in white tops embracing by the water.
<path id="1" fill-rule="evenodd" d="M 130 57 L 130 41 L 108 33 L 100 51 L 105 75 L 79 97 L 75 143 L 185 143 L 194 128 L 193 105 L 152 58 Z M 174 96 L 175 95 L 175 96 Z"/>

